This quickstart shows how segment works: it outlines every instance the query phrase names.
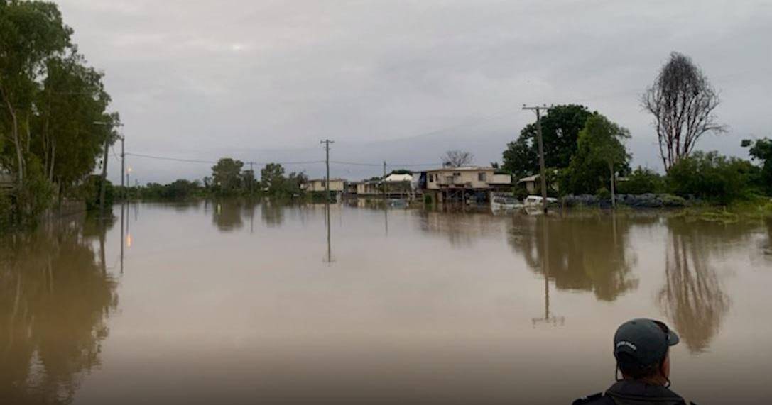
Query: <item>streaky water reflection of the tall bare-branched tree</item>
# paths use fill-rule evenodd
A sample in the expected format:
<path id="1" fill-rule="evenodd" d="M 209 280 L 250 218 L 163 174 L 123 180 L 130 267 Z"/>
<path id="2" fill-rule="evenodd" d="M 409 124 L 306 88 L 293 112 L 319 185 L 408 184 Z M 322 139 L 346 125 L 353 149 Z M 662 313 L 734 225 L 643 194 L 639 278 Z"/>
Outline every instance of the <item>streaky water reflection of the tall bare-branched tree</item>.
<path id="1" fill-rule="evenodd" d="M 698 226 L 699 225 L 699 226 Z M 733 225 L 730 229 L 739 229 Z M 745 238 L 721 224 L 693 224 L 680 218 L 668 221 L 665 285 L 659 305 L 692 353 L 708 348 L 719 331 L 730 300 L 721 288 L 711 256 L 721 254 L 727 238 Z M 723 242 L 717 243 L 716 237 Z"/>

